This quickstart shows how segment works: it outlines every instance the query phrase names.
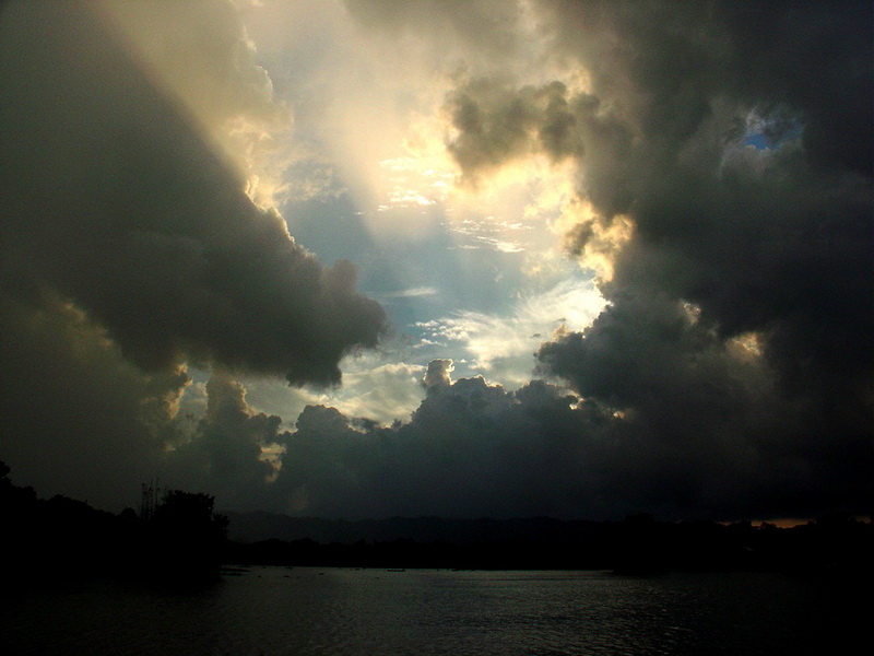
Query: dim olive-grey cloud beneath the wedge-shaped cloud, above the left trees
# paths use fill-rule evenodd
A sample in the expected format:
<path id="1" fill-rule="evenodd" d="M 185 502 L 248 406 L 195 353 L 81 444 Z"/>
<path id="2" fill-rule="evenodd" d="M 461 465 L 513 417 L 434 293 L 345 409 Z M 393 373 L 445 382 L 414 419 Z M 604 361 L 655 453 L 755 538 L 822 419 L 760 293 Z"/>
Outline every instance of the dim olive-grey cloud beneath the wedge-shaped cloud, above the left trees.
<path id="1" fill-rule="evenodd" d="M 20 484 L 101 507 L 133 505 L 158 471 L 163 426 L 190 378 L 144 374 L 68 302 L 0 294 L 0 454 Z"/>

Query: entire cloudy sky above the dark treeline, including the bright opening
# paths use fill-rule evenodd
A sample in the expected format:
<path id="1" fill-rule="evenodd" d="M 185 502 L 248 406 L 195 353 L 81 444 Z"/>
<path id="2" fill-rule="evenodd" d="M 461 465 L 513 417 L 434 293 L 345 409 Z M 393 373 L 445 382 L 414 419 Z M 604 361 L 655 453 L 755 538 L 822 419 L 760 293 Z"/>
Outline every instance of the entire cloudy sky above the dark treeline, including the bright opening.
<path id="1" fill-rule="evenodd" d="M 0 4 L 0 459 L 299 516 L 869 516 L 870 2 Z"/>

